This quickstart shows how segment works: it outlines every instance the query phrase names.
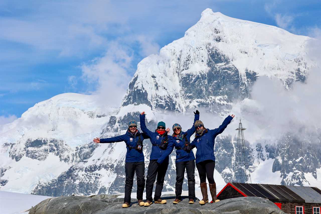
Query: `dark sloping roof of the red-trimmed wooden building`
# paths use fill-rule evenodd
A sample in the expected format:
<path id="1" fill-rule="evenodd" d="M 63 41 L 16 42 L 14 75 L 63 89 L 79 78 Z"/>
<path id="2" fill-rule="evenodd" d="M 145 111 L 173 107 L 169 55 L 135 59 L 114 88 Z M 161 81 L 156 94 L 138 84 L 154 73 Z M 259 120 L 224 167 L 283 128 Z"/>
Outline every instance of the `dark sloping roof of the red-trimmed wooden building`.
<path id="1" fill-rule="evenodd" d="M 317 187 L 234 182 L 229 184 L 247 196 L 266 198 L 270 201 L 321 203 L 321 191 Z"/>

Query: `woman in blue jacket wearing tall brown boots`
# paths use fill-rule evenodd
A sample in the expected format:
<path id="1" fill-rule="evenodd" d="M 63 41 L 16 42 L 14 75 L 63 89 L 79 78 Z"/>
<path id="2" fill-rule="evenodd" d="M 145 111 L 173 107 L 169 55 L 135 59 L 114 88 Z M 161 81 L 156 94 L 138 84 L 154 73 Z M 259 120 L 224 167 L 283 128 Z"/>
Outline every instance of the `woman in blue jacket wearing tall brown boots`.
<path id="1" fill-rule="evenodd" d="M 229 115 L 227 118 L 225 118 L 222 125 L 220 125 L 217 129 L 205 129 L 201 120 L 197 120 L 194 123 L 196 134 L 191 145 L 197 148 L 195 162 L 198 174 L 200 176 L 200 186 L 203 195 L 203 199 L 199 202 L 200 204 L 205 204 L 208 202 L 206 177 L 212 196 L 211 203 L 220 201 L 216 197 L 216 183 L 214 181 L 214 140 L 217 135 L 221 134 L 224 129 L 226 129 L 227 125 L 230 124 L 233 118 L 233 114 L 232 116 Z"/>

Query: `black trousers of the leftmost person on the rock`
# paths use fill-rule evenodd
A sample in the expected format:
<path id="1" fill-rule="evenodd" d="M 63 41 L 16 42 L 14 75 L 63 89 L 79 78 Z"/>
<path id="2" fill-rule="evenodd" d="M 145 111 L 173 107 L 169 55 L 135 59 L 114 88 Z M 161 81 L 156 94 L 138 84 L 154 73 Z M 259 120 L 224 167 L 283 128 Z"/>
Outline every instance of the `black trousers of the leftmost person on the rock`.
<path id="1" fill-rule="evenodd" d="M 143 192 L 145 186 L 145 162 L 126 162 L 125 163 L 125 198 L 124 202 L 130 203 L 130 195 L 132 193 L 134 173 L 137 178 L 137 200 L 143 200 Z"/>

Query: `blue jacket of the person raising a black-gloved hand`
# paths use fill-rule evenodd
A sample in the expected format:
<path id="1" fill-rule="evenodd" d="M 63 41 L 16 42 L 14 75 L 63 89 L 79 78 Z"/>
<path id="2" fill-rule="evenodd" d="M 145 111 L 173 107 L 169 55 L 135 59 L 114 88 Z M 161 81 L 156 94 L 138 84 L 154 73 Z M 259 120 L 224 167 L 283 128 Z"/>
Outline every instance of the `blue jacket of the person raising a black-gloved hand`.
<path id="1" fill-rule="evenodd" d="M 194 116 L 194 123 L 196 120 L 199 120 L 200 115 L 199 114 L 195 114 Z M 190 142 L 190 138 L 191 136 L 195 133 L 196 129 L 194 127 L 194 123 L 192 128 L 188 129 L 186 132 L 182 131 L 180 134 L 184 135 L 185 133 L 187 133 L 186 138 L 187 141 Z M 177 137 L 174 137 L 174 140 L 171 140 L 172 142 L 174 142 L 174 146 L 176 148 L 176 160 L 175 163 L 178 162 L 183 162 L 183 161 L 190 161 L 190 160 L 195 160 L 195 156 L 193 151 L 191 150 L 189 153 L 187 153 L 183 148 L 185 146 L 185 139 L 181 140 Z"/>

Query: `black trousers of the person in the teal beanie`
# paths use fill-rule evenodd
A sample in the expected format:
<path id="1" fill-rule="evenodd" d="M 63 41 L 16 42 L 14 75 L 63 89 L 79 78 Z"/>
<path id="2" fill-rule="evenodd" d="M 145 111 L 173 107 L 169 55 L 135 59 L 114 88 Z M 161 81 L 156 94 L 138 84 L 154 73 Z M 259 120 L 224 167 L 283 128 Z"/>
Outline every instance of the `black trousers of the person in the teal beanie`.
<path id="1" fill-rule="evenodd" d="M 153 201 L 152 193 L 154 188 L 154 182 L 156 180 L 156 188 L 155 188 L 155 195 L 154 200 L 160 199 L 161 191 L 163 190 L 164 186 L 164 178 L 168 167 L 168 162 L 163 162 L 160 165 L 157 164 L 157 160 L 151 160 L 148 165 L 147 170 L 147 179 L 146 179 L 146 200 Z"/>

